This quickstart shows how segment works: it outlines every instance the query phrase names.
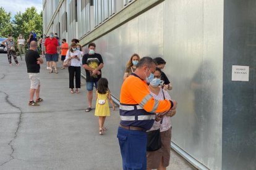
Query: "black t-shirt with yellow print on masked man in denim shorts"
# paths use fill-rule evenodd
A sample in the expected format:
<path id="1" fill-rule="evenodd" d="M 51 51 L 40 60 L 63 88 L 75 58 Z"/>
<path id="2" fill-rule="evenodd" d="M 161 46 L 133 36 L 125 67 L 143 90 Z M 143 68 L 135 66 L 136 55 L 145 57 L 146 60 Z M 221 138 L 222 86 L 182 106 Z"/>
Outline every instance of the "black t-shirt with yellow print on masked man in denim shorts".
<path id="1" fill-rule="evenodd" d="M 103 63 L 102 57 L 100 54 L 95 53 L 93 55 L 85 54 L 83 55 L 82 64 L 87 64 L 91 68 L 97 68 L 101 63 Z M 101 70 L 99 70 L 101 72 Z M 98 81 L 98 79 L 101 78 L 100 75 L 92 75 L 92 71 L 86 70 L 86 81 L 87 82 L 93 82 Z"/>

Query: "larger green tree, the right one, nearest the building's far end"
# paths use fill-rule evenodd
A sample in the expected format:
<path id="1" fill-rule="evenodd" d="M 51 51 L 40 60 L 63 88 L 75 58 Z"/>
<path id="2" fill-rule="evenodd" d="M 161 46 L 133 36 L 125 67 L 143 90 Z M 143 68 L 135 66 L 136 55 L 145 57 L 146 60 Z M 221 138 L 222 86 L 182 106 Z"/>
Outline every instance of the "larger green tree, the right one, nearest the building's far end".
<path id="1" fill-rule="evenodd" d="M 17 12 L 14 15 L 13 25 L 15 37 L 23 34 L 28 38 L 30 31 L 34 30 L 39 38 L 39 35 L 43 34 L 43 12 L 38 14 L 35 7 L 28 7 L 25 12 Z"/>

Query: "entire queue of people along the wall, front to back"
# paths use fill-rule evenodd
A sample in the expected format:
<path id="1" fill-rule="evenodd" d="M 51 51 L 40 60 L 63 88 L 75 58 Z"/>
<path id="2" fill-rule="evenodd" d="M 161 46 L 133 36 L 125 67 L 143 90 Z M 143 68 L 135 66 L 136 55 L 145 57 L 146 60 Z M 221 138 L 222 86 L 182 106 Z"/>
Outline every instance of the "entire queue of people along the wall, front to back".
<path id="1" fill-rule="evenodd" d="M 111 99 L 108 80 L 101 78 L 101 69 L 104 67 L 104 63 L 101 55 L 95 52 L 96 44 L 93 42 L 88 44 L 88 53 L 83 54 L 77 39 L 72 39 L 69 46 L 66 39 L 62 39 L 62 44 L 60 44 L 56 37 L 58 37 L 57 34 L 50 33 L 48 38 L 43 35 L 40 39 L 41 54 L 42 57 L 45 55 L 47 69 L 49 69 L 49 73 L 53 73 L 54 68 L 54 73 L 58 73 L 56 62 L 59 59 L 59 51 L 61 51 L 61 69 L 64 69 L 63 63 L 70 60 L 68 71 L 71 94 L 74 94 L 74 88 L 75 93 L 79 93 L 81 67 L 85 69 L 88 91 L 88 107 L 85 111 L 92 110 L 93 88 L 95 87 L 95 116 L 98 116 L 99 134 L 103 135 L 106 131 L 104 126 L 106 116 L 110 116 L 109 102 L 113 110 L 115 110 L 115 105 Z M 43 99 L 40 98 L 39 77 L 40 64 L 43 63 L 43 59 L 37 52 L 36 41 L 37 39 L 31 33 L 30 38 L 27 39 L 29 49 L 25 53 L 27 73 L 30 78 L 30 100 L 28 102 L 30 106 L 39 106 L 39 103 L 43 102 Z M 16 64 L 19 65 L 17 56 L 11 51 L 11 47 L 15 46 L 11 35 L 8 36 L 6 44 L 9 63 L 11 59 L 9 55 L 13 55 Z M 23 52 L 25 39 L 21 34 L 17 46 Z M 162 71 L 165 65 L 166 62 L 161 57 L 155 59 L 143 57 L 141 59 L 138 54 L 132 54 L 127 62 L 120 94 L 121 122 L 117 131 L 123 169 L 166 169 L 169 166 L 171 117 L 176 114 L 177 102 L 171 100 L 166 91 L 173 89 L 173 85 Z M 164 116 L 159 113 L 164 113 Z M 146 132 L 156 129 L 160 129 L 161 148 L 147 152 Z"/>

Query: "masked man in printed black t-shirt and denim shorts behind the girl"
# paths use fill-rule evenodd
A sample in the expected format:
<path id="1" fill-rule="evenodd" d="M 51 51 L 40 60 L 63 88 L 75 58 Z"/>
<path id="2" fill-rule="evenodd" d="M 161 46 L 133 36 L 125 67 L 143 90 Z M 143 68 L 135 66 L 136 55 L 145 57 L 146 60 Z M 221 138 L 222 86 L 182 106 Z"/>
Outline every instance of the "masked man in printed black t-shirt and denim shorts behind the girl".
<path id="1" fill-rule="evenodd" d="M 86 112 L 92 110 L 92 97 L 93 97 L 93 85 L 98 87 L 98 80 L 101 78 L 101 68 L 104 63 L 100 54 L 95 53 L 96 45 L 91 42 L 88 45 L 88 54 L 83 55 L 82 64 L 86 72 L 86 84 L 87 84 L 87 97 L 88 97 L 88 108 Z"/>

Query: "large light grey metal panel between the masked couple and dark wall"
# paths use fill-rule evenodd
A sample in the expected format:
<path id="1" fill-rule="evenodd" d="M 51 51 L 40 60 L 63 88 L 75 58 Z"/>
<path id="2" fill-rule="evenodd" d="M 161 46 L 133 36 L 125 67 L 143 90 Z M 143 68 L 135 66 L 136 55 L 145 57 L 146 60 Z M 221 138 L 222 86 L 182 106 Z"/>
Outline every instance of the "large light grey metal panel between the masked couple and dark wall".
<path id="1" fill-rule="evenodd" d="M 164 73 L 179 103 L 173 142 L 210 169 L 221 169 L 222 18 L 222 0 L 164 1 Z"/>

